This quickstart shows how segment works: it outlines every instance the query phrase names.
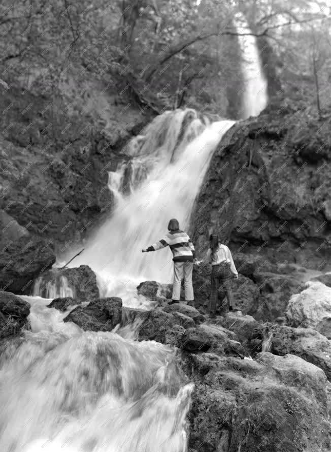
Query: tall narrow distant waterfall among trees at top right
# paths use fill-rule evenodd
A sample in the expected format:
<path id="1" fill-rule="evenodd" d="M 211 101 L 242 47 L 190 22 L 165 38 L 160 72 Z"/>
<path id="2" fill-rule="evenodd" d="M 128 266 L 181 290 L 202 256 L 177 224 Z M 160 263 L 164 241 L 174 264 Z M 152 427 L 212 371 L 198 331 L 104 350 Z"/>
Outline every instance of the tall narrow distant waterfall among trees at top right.
<path id="1" fill-rule="evenodd" d="M 256 45 L 255 36 L 248 35 L 251 30 L 241 13 L 236 14 L 239 45 L 242 51 L 242 71 L 244 75 L 242 117 L 257 116 L 266 106 L 268 101 L 268 84 L 263 75 L 261 61 Z M 246 35 L 245 35 L 246 34 Z"/>

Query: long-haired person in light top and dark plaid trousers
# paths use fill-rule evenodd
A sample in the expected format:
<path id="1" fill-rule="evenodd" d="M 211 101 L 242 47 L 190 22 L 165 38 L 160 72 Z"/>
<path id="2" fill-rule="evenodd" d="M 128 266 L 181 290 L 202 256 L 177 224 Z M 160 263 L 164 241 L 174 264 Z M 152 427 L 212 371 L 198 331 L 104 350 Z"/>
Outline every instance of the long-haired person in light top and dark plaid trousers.
<path id="1" fill-rule="evenodd" d="M 206 262 L 212 265 L 209 313 L 211 317 L 215 317 L 220 286 L 223 287 L 226 294 L 229 310 L 236 310 L 231 289 L 231 279 L 234 277 L 237 279 L 238 272 L 230 250 L 220 242 L 218 235 L 211 234 L 209 242 L 210 248 L 206 257 L 202 261 L 198 261 L 197 264 L 200 265 Z"/>

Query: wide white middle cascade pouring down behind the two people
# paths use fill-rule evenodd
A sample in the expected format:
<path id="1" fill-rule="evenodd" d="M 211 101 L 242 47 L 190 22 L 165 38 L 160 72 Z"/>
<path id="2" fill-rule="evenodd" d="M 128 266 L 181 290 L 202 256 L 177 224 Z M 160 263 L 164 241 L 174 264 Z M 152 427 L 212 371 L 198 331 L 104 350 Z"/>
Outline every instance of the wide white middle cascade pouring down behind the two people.
<path id="1" fill-rule="evenodd" d="M 122 176 L 112 176 L 110 189 L 116 199 L 112 216 L 70 264 L 87 264 L 99 280 L 104 277 L 101 293 L 118 295 L 127 281 L 171 282 L 170 249 L 146 254 L 141 250 L 162 238 L 170 218 L 177 218 L 181 229 L 188 228 L 212 154 L 235 121 L 206 122 L 191 109 L 165 112 L 147 126 L 138 144 L 134 139 L 128 145 L 127 153 L 133 155 L 129 165 L 135 168 L 129 177 L 129 195 L 114 182 Z M 122 164 L 119 173 L 124 173 Z"/>

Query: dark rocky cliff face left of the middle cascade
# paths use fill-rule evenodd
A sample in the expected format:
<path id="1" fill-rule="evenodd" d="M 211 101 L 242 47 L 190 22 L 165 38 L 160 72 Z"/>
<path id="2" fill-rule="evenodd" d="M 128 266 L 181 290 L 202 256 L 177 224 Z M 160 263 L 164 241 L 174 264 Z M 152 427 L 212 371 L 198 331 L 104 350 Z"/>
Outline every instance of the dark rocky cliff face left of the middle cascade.
<path id="1" fill-rule="evenodd" d="M 125 142 L 149 118 L 113 103 L 103 111 L 105 120 L 63 101 L 54 119 L 51 101 L 18 87 L 0 94 L 0 209 L 61 246 L 79 241 L 111 208 L 108 171 L 116 170 Z"/>

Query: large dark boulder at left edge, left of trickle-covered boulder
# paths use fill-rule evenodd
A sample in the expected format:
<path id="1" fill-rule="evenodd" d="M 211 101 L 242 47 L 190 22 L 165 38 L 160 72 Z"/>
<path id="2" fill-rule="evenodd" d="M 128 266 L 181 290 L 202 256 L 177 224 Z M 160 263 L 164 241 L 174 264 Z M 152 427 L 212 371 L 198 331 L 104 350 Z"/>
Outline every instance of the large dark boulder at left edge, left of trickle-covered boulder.
<path id="1" fill-rule="evenodd" d="M 55 260 L 51 240 L 21 234 L 0 250 L 0 286 L 17 295 L 29 295 L 35 278 Z"/>

